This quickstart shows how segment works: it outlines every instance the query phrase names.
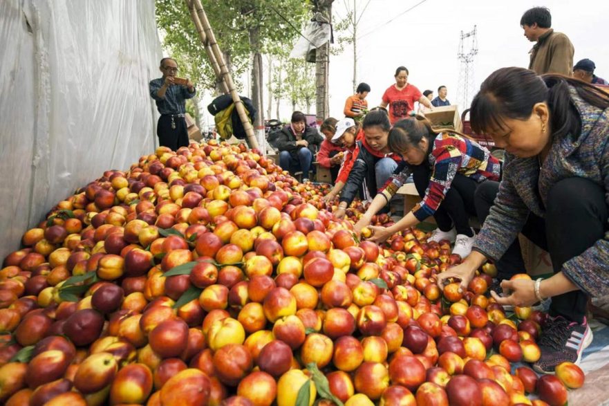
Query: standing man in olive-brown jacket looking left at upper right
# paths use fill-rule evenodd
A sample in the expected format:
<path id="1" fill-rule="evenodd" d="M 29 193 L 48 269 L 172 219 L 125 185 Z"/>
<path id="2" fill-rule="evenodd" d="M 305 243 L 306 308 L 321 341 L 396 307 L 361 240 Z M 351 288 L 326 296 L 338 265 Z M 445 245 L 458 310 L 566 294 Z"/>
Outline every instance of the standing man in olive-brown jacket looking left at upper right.
<path id="1" fill-rule="evenodd" d="M 569 38 L 563 33 L 556 33 L 550 28 L 552 15 L 545 7 L 535 7 L 527 10 L 521 18 L 521 27 L 525 37 L 536 42 L 529 54 L 531 57 L 529 69 L 543 75 L 544 73 L 560 73 L 570 76 L 573 68 L 575 50 Z"/>

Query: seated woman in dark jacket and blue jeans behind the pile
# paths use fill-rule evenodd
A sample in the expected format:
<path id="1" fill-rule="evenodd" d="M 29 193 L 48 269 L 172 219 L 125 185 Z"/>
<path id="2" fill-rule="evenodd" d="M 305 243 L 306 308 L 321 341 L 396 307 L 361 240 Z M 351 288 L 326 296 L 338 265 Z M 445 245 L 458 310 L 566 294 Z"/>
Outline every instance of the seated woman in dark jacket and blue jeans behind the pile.
<path id="1" fill-rule="evenodd" d="M 317 148 L 324 141 L 317 129 L 308 127 L 306 118 L 300 111 L 292 113 L 292 123 L 284 127 L 277 136 L 279 149 L 279 166 L 284 171 L 302 171 L 302 177 L 308 179 L 313 157 Z"/>

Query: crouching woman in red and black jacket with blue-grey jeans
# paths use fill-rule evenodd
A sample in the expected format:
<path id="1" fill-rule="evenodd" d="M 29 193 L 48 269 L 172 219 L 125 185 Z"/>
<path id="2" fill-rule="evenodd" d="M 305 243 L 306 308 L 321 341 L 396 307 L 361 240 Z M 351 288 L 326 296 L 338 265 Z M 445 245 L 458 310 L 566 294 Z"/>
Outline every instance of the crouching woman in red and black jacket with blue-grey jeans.
<path id="1" fill-rule="evenodd" d="M 342 219 L 345 216 L 348 205 L 353 202 L 355 194 L 357 194 L 362 184 L 365 185 L 364 192 L 374 196 L 378 190 L 377 185 L 384 185 L 397 168 L 397 164 L 402 162 L 402 158 L 393 154 L 387 147 L 391 124 L 389 124 L 389 118 L 385 111 L 375 110 L 366 114 L 362 127 L 364 137 L 355 143 L 353 158 L 351 158 L 353 167 L 348 172 L 348 178 L 341 190 L 339 206 L 334 212 L 337 219 Z M 353 133 L 355 133 L 355 128 Z M 342 136 L 342 133 L 337 130 L 335 138 L 339 135 Z M 341 174 L 339 174 L 339 180 L 341 180 Z M 335 195 L 337 192 L 332 190 L 330 193 Z M 399 202 L 397 204 L 399 205 Z"/>

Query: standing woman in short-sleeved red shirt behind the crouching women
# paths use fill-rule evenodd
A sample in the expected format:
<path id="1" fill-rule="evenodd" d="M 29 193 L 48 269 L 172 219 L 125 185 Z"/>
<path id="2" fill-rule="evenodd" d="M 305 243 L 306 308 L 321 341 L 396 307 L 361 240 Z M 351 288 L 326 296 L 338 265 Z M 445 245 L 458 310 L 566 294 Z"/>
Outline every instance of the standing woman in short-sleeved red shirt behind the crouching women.
<path id="1" fill-rule="evenodd" d="M 395 70 L 395 84 L 392 84 L 383 94 L 381 107 L 389 111 L 391 125 L 397 120 L 412 116 L 415 110 L 415 102 L 420 102 L 425 107 L 433 110 L 428 98 L 422 95 L 416 86 L 408 82 L 408 69 L 400 66 Z"/>

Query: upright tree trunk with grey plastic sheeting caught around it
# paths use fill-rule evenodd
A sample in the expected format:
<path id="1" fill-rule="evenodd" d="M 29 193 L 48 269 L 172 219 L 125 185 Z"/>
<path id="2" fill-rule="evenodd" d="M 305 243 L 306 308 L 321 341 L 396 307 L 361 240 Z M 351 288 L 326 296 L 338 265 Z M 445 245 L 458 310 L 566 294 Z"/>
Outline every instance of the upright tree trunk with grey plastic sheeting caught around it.
<path id="1" fill-rule="evenodd" d="M 332 0 L 319 1 L 317 11 L 332 21 Z M 315 107 L 317 123 L 321 124 L 330 114 L 328 100 L 328 73 L 330 71 L 330 41 L 317 48 L 315 53 Z"/>

